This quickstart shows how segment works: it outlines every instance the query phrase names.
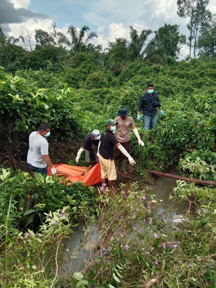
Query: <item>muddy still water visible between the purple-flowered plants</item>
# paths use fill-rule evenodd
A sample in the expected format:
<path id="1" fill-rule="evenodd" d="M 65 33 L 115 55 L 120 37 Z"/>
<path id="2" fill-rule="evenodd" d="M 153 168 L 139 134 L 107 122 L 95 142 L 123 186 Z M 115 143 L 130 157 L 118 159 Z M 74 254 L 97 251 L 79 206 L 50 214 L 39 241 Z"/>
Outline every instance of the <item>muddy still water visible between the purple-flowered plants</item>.
<path id="1" fill-rule="evenodd" d="M 176 171 L 173 171 L 173 174 L 177 174 Z M 168 208 L 172 208 L 171 216 L 167 220 L 171 222 L 174 220 L 174 222 L 176 221 L 176 223 L 178 223 L 184 217 L 186 206 L 180 206 L 178 202 L 174 203 L 169 201 L 169 195 L 172 193 L 173 187 L 176 187 L 176 179 L 161 177 L 151 186 L 152 190 L 149 190 L 149 193 L 155 195 L 155 200 L 163 200 L 162 203 L 164 205 L 160 205 L 158 214 L 167 211 Z M 82 242 L 85 233 L 83 227 L 86 229 L 84 223 L 74 227 L 74 233 L 70 235 L 70 239 L 68 238 L 64 241 L 64 257 L 69 260 L 65 261 L 62 268 L 63 271 L 68 271 L 69 274 L 81 269 L 84 259 L 88 257 L 91 246 L 97 243 L 97 238 L 100 235 L 100 231 L 97 231 L 96 226 L 91 227 L 88 234 L 88 241 L 85 240 L 85 242 Z"/>

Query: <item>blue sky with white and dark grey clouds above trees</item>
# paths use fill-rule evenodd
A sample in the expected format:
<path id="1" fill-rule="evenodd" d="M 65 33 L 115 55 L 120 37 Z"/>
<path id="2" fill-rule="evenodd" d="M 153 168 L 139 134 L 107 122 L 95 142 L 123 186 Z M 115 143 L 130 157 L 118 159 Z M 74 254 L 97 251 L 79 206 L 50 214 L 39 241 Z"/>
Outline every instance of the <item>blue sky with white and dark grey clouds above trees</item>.
<path id="1" fill-rule="evenodd" d="M 215 0 L 210 0 L 208 9 L 216 13 Z M 35 46 L 35 29 L 50 30 L 55 22 L 58 31 L 67 33 L 69 25 L 81 28 L 88 25 L 98 38 L 93 44 L 102 44 L 103 49 L 116 37 L 129 39 L 129 26 L 157 30 L 167 24 L 178 24 L 179 31 L 188 37 L 188 19 L 180 18 L 176 0 L 0 0 L 0 25 L 7 35 L 19 37 L 28 28 L 32 33 L 31 44 Z M 22 42 L 18 45 L 23 46 Z M 27 45 L 28 46 L 28 45 Z M 188 55 L 184 45 L 180 58 Z"/>

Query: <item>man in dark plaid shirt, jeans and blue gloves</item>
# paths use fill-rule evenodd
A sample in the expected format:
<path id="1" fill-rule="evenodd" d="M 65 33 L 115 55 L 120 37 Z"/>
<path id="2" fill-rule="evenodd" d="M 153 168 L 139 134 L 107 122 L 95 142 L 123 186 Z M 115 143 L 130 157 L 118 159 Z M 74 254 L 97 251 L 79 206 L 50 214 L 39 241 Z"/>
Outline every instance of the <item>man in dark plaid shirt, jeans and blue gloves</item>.
<path id="1" fill-rule="evenodd" d="M 137 108 L 137 121 L 140 121 L 140 111 L 143 111 L 143 129 L 155 128 L 157 122 L 157 107 L 155 107 L 151 99 L 160 103 L 158 93 L 154 91 L 154 85 L 148 83 L 146 85 L 146 92 L 140 97 Z M 158 108 L 161 115 L 164 116 L 162 107 Z"/>

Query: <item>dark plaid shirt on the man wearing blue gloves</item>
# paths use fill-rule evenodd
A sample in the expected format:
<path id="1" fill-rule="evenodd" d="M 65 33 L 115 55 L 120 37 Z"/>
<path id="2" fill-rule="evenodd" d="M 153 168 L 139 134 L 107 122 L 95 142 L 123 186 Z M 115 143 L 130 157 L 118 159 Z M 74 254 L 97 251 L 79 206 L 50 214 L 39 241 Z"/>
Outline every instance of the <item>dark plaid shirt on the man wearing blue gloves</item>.
<path id="1" fill-rule="evenodd" d="M 146 116 L 153 116 L 157 114 L 157 108 L 152 105 L 152 101 L 150 97 L 152 97 L 152 100 L 160 102 L 158 98 L 158 92 L 154 91 L 152 93 L 152 96 L 150 96 L 148 92 L 145 92 L 140 97 L 137 111 L 143 111 L 143 115 L 146 115 Z"/>

